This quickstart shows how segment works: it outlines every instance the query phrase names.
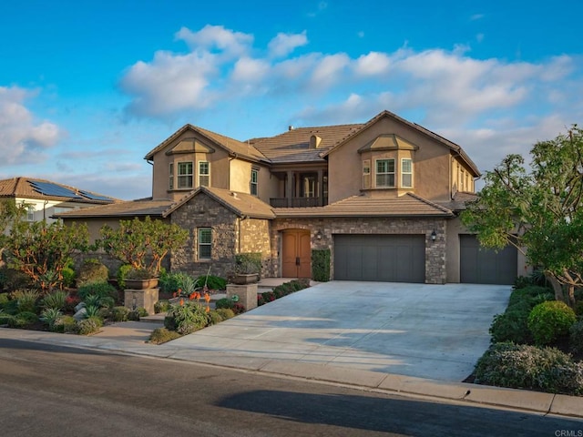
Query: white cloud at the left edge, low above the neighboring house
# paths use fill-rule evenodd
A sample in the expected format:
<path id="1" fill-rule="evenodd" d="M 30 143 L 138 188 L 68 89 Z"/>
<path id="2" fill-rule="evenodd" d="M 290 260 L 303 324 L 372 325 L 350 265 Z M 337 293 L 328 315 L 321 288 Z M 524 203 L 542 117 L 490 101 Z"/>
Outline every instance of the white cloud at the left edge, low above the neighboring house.
<path id="1" fill-rule="evenodd" d="M 64 135 L 54 123 L 36 120 L 26 107 L 26 99 L 36 91 L 18 86 L 0 86 L 0 153 L 2 165 L 42 162 L 44 150 L 56 145 Z"/>

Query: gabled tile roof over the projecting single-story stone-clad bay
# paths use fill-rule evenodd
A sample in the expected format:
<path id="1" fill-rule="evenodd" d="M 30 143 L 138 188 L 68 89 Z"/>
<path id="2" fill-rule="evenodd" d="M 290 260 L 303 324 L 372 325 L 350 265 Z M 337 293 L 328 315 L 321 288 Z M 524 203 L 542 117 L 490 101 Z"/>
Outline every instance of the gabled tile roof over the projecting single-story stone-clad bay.
<path id="1" fill-rule="evenodd" d="M 275 214 L 273 213 L 271 206 L 263 202 L 261 199 L 251 196 L 251 194 L 210 187 L 200 187 L 191 191 L 187 196 L 181 198 L 179 202 L 167 209 L 164 212 L 163 217 L 168 217 L 172 212 L 180 208 L 191 198 L 198 196 L 199 193 L 209 195 L 210 198 L 214 198 L 220 204 L 230 208 L 231 211 L 240 217 L 246 216 L 252 219 L 275 219 Z"/>

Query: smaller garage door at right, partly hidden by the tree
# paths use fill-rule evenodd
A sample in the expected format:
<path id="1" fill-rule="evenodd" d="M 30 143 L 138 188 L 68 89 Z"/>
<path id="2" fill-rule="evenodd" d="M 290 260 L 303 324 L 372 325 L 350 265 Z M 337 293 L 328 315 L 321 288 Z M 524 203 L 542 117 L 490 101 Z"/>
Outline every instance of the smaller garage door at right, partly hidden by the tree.
<path id="1" fill-rule="evenodd" d="M 517 279 L 517 248 L 480 247 L 474 235 L 460 235 L 460 281 L 471 284 L 513 284 Z"/>

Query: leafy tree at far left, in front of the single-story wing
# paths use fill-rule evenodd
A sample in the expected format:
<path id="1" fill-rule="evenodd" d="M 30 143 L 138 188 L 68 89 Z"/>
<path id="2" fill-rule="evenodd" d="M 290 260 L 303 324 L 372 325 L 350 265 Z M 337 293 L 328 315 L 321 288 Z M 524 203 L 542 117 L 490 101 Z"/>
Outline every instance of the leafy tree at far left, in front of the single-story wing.
<path id="1" fill-rule="evenodd" d="M 21 221 L 10 231 L 6 248 L 8 263 L 33 279 L 41 290 L 50 290 L 62 284 L 63 269 L 71 255 L 77 250 L 87 250 L 88 241 L 85 225 Z"/>

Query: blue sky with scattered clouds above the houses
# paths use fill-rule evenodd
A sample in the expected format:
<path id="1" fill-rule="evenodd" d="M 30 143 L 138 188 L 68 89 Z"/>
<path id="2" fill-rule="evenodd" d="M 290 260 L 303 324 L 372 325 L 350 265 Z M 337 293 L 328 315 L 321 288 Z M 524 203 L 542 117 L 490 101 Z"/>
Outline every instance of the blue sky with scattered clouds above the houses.
<path id="1" fill-rule="evenodd" d="M 583 2 L 0 4 L 0 178 L 151 195 L 191 123 L 245 140 L 387 109 L 481 170 L 583 118 Z"/>

